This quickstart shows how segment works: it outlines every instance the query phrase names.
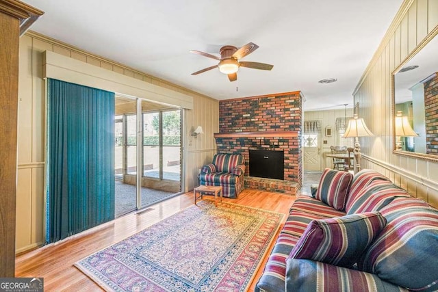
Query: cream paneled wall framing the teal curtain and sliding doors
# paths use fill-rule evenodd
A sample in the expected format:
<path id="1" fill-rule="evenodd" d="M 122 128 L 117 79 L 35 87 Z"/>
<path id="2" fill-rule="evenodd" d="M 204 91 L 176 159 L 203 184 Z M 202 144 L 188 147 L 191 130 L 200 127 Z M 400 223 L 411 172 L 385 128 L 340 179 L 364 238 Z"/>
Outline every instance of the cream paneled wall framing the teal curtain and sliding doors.
<path id="1" fill-rule="evenodd" d="M 20 39 L 18 84 L 18 189 L 16 210 L 16 252 L 23 252 L 44 242 L 44 80 L 42 52 L 53 51 L 82 62 L 112 70 L 141 81 L 192 96 L 194 109 L 185 110 L 183 146 L 185 155 L 185 191 L 197 185 L 198 168 L 211 161 L 216 144 L 213 133 L 218 132 L 218 101 L 167 81 L 146 75 L 82 51 L 63 42 L 35 32 Z M 190 137 L 191 127 L 203 127 L 203 135 Z"/>

